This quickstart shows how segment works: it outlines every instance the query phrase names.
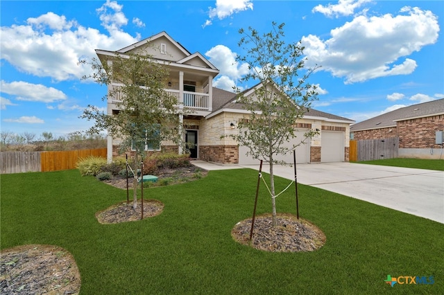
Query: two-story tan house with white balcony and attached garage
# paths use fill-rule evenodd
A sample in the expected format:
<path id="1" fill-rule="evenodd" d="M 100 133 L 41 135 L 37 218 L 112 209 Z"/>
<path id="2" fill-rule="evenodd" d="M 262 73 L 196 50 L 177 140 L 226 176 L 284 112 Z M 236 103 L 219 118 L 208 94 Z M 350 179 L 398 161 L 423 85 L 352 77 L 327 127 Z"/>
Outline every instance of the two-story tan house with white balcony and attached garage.
<path id="1" fill-rule="evenodd" d="M 148 47 L 150 44 L 152 47 Z M 235 101 L 235 93 L 213 87 L 213 79 L 219 74 L 200 53 L 189 53 L 186 48 L 162 32 L 137 44 L 119 51 L 96 50 L 102 63 L 112 62 L 116 53 L 128 53 L 135 49 L 146 48 L 149 54 L 160 62 L 166 61 L 170 71 L 165 91 L 175 95 L 180 105 L 191 113 L 180 118 L 185 129 L 184 141 L 194 146 L 189 150 L 191 158 L 213 161 L 222 164 L 257 163 L 246 157 L 245 149 L 237 144 L 230 134 L 239 132 L 237 123 L 248 116 L 248 111 Z M 159 48 L 154 50 L 153 48 Z M 118 87 L 111 84 L 109 87 Z M 254 95 L 255 89 L 244 91 L 245 96 Z M 108 98 L 108 114 L 117 111 L 116 100 Z M 310 109 L 305 116 L 295 122 L 298 138 L 309 129 L 318 129 L 320 134 L 307 140 L 297 148 L 298 163 L 349 161 L 350 124 L 353 120 Z M 225 137 L 224 137 L 225 136 Z M 117 156 L 120 141 L 108 136 L 108 160 Z M 161 150 L 180 152 L 177 146 L 162 143 Z M 292 162 L 292 154 L 283 157 Z"/>

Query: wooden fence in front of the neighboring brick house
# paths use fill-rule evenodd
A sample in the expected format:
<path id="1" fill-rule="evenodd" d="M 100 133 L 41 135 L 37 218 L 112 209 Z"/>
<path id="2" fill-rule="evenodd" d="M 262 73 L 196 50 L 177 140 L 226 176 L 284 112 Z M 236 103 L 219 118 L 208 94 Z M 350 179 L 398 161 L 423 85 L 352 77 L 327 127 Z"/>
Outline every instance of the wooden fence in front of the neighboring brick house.
<path id="1" fill-rule="evenodd" d="M 350 161 L 372 161 L 398 157 L 399 138 L 350 141 Z"/>

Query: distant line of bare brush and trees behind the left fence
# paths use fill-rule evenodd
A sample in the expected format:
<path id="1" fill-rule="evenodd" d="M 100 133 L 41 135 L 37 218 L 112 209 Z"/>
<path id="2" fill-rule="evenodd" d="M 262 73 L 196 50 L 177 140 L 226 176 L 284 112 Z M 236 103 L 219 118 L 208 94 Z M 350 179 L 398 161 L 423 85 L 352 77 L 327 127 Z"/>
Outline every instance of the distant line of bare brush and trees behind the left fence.
<path id="1" fill-rule="evenodd" d="M 55 137 L 51 132 L 42 132 L 40 136 L 32 132 L 17 134 L 10 131 L 0 132 L 1 152 L 39 152 L 56 150 L 88 150 L 106 147 L 105 134 L 71 132 Z"/>

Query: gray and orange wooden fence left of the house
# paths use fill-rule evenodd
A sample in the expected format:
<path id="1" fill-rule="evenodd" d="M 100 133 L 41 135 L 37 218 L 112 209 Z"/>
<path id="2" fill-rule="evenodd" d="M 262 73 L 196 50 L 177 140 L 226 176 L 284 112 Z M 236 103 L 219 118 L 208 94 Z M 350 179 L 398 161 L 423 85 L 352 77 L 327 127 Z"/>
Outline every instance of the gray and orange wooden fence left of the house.
<path id="1" fill-rule="evenodd" d="M 1 174 L 75 169 L 79 159 L 106 158 L 106 148 L 58 152 L 1 152 Z"/>

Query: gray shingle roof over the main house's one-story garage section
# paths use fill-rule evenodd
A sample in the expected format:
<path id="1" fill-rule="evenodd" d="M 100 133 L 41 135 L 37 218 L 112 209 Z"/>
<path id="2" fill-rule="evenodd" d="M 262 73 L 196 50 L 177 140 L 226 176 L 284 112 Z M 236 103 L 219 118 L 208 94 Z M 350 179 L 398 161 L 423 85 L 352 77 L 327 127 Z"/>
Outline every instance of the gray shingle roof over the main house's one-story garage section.
<path id="1" fill-rule="evenodd" d="M 251 87 L 250 89 L 246 89 L 241 93 L 243 93 L 244 95 L 249 95 L 253 93 L 252 91 L 254 91 L 254 89 L 256 89 L 258 86 L 260 87 L 260 85 L 261 83 L 256 84 L 255 86 Z M 210 115 L 207 116 L 207 118 L 211 118 L 212 116 L 220 114 L 223 111 L 248 114 L 248 111 L 246 111 L 244 104 L 236 102 L 236 98 L 236 93 L 213 87 L 213 111 Z M 306 109 L 304 118 L 316 118 L 317 120 L 327 120 L 330 122 L 333 121 L 348 124 L 355 123 L 354 120 L 350 120 L 341 116 L 336 116 L 334 114 L 325 113 L 324 111 L 318 111 L 316 109 Z"/>

